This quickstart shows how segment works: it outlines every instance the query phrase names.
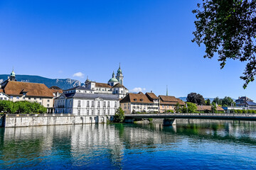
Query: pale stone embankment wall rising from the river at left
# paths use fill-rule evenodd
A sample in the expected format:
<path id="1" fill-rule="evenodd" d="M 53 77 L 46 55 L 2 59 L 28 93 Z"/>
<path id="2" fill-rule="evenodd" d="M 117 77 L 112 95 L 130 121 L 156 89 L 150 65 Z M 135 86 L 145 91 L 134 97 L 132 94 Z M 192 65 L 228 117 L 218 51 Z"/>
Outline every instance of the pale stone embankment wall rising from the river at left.
<path id="1" fill-rule="evenodd" d="M 4 127 L 26 127 L 26 126 L 41 126 L 41 125 L 76 125 L 85 123 L 107 123 L 107 120 L 112 120 L 110 115 L 71 115 L 71 114 L 41 114 L 28 115 L 16 114 L 6 115 Z"/>

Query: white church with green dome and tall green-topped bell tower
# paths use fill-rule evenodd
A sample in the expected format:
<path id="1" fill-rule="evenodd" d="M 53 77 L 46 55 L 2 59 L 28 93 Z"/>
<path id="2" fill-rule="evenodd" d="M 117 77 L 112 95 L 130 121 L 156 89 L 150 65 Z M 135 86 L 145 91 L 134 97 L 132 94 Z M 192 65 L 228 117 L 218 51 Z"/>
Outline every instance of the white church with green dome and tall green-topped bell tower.
<path id="1" fill-rule="evenodd" d="M 119 66 L 117 70 L 117 76 L 115 77 L 114 72 L 112 78 L 105 83 L 97 83 L 87 79 L 85 81 L 85 88 L 94 91 L 95 94 L 117 94 L 118 98 L 124 98 L 129 93 L 128 89 L 123 85 L 124 76 Z"/>

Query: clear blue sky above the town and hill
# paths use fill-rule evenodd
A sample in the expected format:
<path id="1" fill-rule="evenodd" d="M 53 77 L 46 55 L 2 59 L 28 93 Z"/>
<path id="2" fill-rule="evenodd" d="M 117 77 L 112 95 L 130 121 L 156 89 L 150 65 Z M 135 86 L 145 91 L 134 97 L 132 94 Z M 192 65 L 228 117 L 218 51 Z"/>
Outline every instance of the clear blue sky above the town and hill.
<path id="1" fill-rule="evenodd" d="M 0 1 L 0 74 L 106 82 L 121 62 L 124 86 L 171 96 L 248 96 L 245 63 L 217 56 L 192 43 L 191 12 L 201 1 Z M 76 74 L 81 72 L 82 74 Z M 80 77 L 73 77 L 78 75 Z M 83 76 L 82 76 L 83 75 Z M 143 91 L 143 92 L 146 92 Z"/>

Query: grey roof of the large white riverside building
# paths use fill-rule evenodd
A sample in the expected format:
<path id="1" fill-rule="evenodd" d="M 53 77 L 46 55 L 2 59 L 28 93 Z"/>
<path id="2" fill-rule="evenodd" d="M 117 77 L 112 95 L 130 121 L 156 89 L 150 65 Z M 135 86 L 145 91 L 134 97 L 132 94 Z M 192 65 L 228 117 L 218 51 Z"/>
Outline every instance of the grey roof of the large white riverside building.
<path id="1" fill-rule="evenodd" d="M 103 100 L 119 101 L 117 95 L 114 94 L 85 94 L 85 93 L 73 93 L 64 94 L 66 98 L 102 98 Z"/>

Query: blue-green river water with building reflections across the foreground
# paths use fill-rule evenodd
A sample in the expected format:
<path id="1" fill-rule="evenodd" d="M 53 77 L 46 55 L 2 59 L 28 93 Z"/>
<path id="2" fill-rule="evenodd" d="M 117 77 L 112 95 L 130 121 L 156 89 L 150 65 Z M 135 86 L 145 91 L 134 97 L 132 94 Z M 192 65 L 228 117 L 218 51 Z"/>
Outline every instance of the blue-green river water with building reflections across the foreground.
<path id="1" fill-rule="evenodd" d="M 256 169 L 256 123 L 0 128 L 0 169 Z"/>

